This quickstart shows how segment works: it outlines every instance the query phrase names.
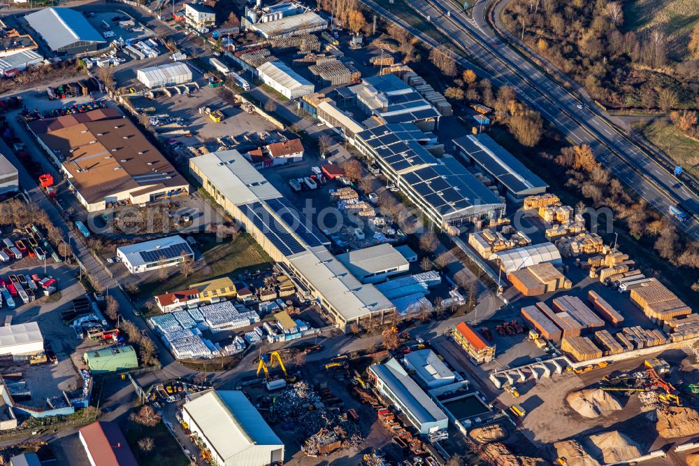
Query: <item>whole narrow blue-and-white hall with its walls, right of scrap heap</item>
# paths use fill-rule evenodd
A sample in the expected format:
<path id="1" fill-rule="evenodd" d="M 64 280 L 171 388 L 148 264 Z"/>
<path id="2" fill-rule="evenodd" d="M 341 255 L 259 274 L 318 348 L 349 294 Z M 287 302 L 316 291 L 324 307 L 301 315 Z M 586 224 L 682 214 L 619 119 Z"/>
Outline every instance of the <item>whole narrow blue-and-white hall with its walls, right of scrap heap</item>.
<path id="1" fill-rule="evenodd" d="M 447 429 L 449 419 L 435 402 L 410 378 L 395 358 L 369 366 L 379 393 L 401 411 L 421 435 Z"/>

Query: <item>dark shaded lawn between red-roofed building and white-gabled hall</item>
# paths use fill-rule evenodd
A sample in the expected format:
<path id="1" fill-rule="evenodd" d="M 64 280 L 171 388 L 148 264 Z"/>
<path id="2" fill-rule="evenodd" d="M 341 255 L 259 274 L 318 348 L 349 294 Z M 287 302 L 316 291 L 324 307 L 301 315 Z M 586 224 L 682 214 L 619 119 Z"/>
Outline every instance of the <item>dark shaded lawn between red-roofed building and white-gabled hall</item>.
<path id="1" fill-rule="evenodd" d="M 187 466 L 190 463 L 163 423 L 151 428 L 132 422 L 126 437 L 140 466 Z M 146 452 L 138 448 L 138 440 L 143 437 L 152 437 L 155 442 L 153 451 Z"/>

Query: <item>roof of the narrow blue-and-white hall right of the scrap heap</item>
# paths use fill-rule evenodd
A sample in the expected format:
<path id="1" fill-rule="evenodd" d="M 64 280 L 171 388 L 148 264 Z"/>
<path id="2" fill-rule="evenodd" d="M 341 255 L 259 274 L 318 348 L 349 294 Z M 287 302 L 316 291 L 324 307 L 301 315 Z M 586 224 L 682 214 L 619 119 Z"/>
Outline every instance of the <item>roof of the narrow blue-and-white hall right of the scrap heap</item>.
<path id="1" fill-rule="evenodd" d="M 444 411 L 410 379 L 408 372 L 395 358 L 385 364 L 369 366 L 369 370 L 381 379 L 420 423 L 434 423 L 447 418 Z"/>

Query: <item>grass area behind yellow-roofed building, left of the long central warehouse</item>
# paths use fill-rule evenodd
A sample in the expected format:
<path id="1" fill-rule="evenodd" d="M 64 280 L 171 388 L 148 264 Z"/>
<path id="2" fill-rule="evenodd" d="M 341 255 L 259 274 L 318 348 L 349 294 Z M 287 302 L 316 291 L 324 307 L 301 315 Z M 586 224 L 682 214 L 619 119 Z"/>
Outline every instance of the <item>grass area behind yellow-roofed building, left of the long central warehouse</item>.
<path id="1" fill-rule="evenodd" d="M 211 234 L 193 236 L 199 242 L 198 248 L 203 252 L 203 260 L 206 265 L 196 269 L 188 277 L 175 274 L 165 281 L 156 280 L 143 283 L 140 285 L 140 295 L 150 297 L 168 291 L 184 290 L 192 283 L 199 283 L 210 278 L 224 275 L 235 278 L 244 271 L 263 270 L 271 267 L 271 258 L 247 233 L 240 232 L 232 241 L 224 239 L 220 243 Z"/>

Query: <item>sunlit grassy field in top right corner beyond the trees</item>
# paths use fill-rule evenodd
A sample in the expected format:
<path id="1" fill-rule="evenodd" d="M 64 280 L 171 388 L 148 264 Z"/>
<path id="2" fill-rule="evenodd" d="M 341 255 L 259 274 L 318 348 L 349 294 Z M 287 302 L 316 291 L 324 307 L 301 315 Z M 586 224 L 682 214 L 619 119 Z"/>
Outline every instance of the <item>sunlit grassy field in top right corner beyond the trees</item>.
<path id="1" fill-rule="evenodd" d="M 687 55 L 689 34 L 699 22 L 699 0 L 634 0 L 624 3 L 624 29 L 648 33 L 660 27 L 676 59 Z"/>

